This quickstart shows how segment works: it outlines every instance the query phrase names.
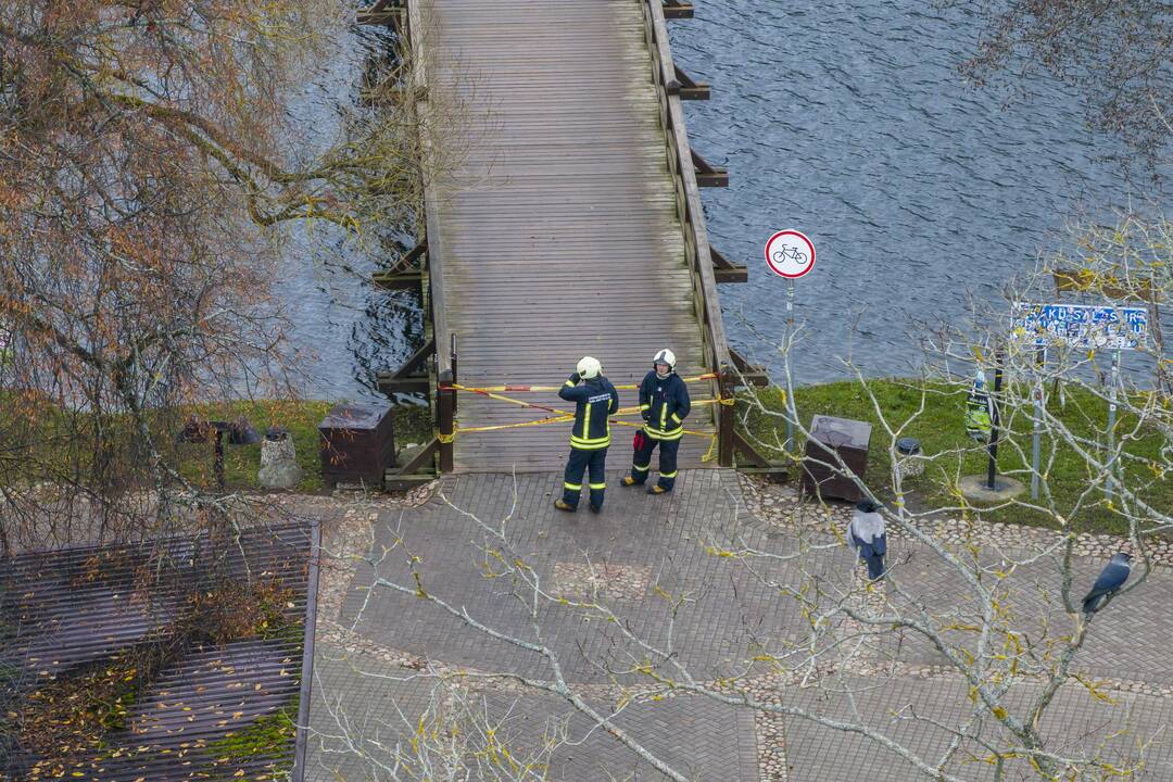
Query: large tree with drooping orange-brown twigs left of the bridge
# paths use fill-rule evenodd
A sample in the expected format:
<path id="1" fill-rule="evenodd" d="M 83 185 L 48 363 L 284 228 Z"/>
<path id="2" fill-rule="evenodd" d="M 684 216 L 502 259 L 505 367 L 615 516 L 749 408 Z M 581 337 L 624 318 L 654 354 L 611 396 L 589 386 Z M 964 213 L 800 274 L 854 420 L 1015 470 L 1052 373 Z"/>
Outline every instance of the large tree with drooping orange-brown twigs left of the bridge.
<path id="1" fill-rule="evenodd" d="M 368 100 L 339 103 L 341 135 L 320 154 L 284 118 L 353 13 L 0 9 L 0 552 L 76 540 L 69 521 L 95 514 L 102 535 L 160 531 L 164 490 L 203 495 L 171 442 L 194 406 L 293 394 L 278 226 L 326 222 L 361 244 L 420 219 L 460 123 L 443 101 L 415 110 L 413 50 L 392 41 L 372 59 Z"/>

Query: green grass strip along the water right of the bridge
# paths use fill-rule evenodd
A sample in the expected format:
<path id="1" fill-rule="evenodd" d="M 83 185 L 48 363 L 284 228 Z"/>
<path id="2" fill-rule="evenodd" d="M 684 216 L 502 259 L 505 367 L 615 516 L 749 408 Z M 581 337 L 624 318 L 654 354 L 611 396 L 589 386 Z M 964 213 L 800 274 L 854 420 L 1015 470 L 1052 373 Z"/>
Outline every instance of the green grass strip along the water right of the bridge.
<path id="1" fill-rule="evenodd" d="M 884 416 L 893 426 L 900 426 L 908 420 L 921 404 L 922 394 L 914 381 L 869 381 L 869 387 L 881 409 L 884 410 Z M 928 465 L 923 475 L 904 481 L 906 491 L 909 494 L 907 498 L 909 506 L 918 510 L 956 505 L 957 498 L 951 492 L 952 480 L 957 475 L 985 475 L 988 464 L 985 448 L 970 440 L 965 434 L 967 390 L 944 386 L 928 388 L 937 393 L 928 394 L 924 397 L 923 413 L 909 423 L 900 435 L 918 438 L 925 455 L 938 457 Z M 758 389 L 758 394 L 767 409 L 784 409 L 784 395 L 777 387 Z M 799 388 L 795 390 L 795 407 L 799 420 L 807 427 L 809 427 L 811 417 L 815 414 L 856 419 L 870 423 L 873 429 L 866 480 L 868 485 L 877 492 L 877 496 L 887 498 L 891 495 L 890 460 L 888 456 L 888 444 L 891 438 L 879 426 L 875 407 L 859 382 L 843 381 Z M 1049 400 L 1051 414 L 1059 417 L 1073 433 L 1083 436 L 1093 436 L 1097 429 L 1106 427 L 1106 407 L 1101 400 L 1080 389 L 1067 389 L 1066 403 L 1062 407 L 1057 395 L 1051 395 Z M 1017 443 L 1021 453 L 1004 441 L 998 451 L 998 471 L 999 474 L 1013 475 L 1015 470 L 1030 467 L 1030 410 L 1023 409 L 1011 414 L 1008 423 L 1009 438 Z M 1130 431 L 1134 423 L 1135 420 L 1132 416 L 1124 415 L 1121 412 L 1117 430 L 1121 434 Z M 785 441 L 785 423 L 781 419 L 761 412 L 751 410 L 746 428 L 759 441 L 774 443 L 775 437 L 777 442 Z M 801 448 L 802 444 L 800 442 L 799 447 Z M 1164 438 L 1159 433 L 1141 431 L 1138 438 L 1128 441 L 1126 450 L 1143 460 L 1160 463 L 1162 444 L 1165 444 Z M 1044 470 L 1046 470 L 1052 446 L 1056 448 L 1056 455 L 1052 467 L 1046 471 L 1046 485 L 1055 498 L 1057 511 L 1072 522 L 1073 528 L 1078 531 L 1125 532 L 1126 521 L 1105 501 L 1100 490 L 1090 494 L 1083 506 L 1074 510 L 1077 498 L 1092 484 L 1093 478 L 1078 454 L 1065 444 L 1052 443 L 1045 433 L 1042 437 Z M 961 449 L 961 453 L 949 453 L 957 449 Z M 766 450 L 772 451 L 769 455 L 774 458 L 782 457 L 782 454 L 777 449 Z M 1029 474 L 1019 474 L 1016 477 L 1029 484 Z M 1173 506 L 1173 481 L 1157 480 L 1147 465 L 1128 463 L 1125 480 L 1131 487 L 1144 487 L 1140 489 L 1140 495 L 1154 508 Z M 1021 496 L 1021 499 L 1029 501 L 1029 497 L 1028 491 Z M 1045 496 L 1040 496 L 1040 501 L 1044 498 Z M 981 512 L 981 509 L 978 510 Z M 1021 505 L 989 511 L 985 514 L 985 518 L 1017 524 L 1057 525 L 1051 514 Z"/>

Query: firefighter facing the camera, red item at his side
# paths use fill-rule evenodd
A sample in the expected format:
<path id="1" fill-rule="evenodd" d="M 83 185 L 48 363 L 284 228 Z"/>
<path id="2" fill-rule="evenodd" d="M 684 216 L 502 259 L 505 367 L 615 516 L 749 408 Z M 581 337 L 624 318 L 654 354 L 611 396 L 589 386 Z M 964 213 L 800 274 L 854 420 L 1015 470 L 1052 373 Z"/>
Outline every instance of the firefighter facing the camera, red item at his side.
<path id="1" fill-rule="evenodd" d="M 684 419 L 690 408 L 689 389 L 676 374 L 676 355 L 669 349 L 660 351 L 652 359 L 652 370 L 639 385 L 639 413 L 644 416 L 644 429 L 636 433 L 631 475 L 623 478 L 623 485 L 643 485 L 647 481 L 652 450 L 659 446 L 659 480 L 647 488 L 647 494 L 660 495 L 672 490 L 676 483 L 676 451 L 684 436 Z"/>

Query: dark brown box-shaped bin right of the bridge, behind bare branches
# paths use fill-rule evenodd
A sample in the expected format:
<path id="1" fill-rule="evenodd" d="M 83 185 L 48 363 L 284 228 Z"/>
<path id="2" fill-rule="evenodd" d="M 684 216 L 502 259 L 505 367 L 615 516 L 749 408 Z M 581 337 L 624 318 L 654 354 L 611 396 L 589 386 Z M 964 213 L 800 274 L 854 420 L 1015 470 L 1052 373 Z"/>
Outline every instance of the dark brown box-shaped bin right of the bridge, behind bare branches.
<path id="1" fill-rule="evenodd" d="M 811 436 L 802 460 L 802 491 L 822 498 L 859 502 L 866 495 L 849 476 L 842 475 L 835 454 L 855 475 L 863 477 L 868 469 L 868 447 L 872 424 L 852 419 L 816 415 L 811 420 Z M 822 464 L 820 462 L 826 462 Z"/>

